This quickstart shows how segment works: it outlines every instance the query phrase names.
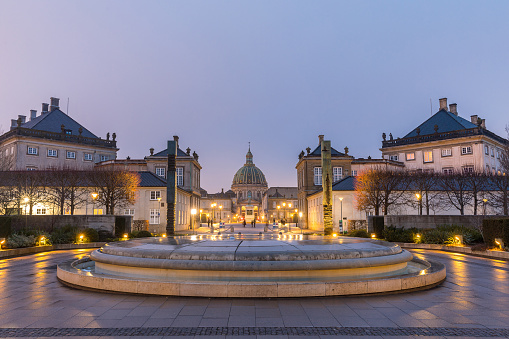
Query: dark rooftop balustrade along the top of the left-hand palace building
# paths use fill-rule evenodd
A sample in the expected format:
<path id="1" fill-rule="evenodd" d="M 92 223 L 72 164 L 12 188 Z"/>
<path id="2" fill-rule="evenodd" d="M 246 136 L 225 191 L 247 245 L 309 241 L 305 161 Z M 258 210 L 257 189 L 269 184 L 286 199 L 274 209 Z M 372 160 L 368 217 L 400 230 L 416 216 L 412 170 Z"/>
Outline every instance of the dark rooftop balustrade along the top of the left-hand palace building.
<path id="1" fill-rule="evenodd" d="M 117 148 L 117 142 L 115 140 L 104 140 L 101 138 L 89 138 L 81 135 L 72 135 L 66 133 L 55 133 L 48 131 L 40 131 L 36 129 L 16 127 L 9 132 L 0 136 L 0 142 L 9 139 L 14 136 L 24 136 L 32 138 L 41 138 L 47 140 L 65 141 L 76 144 L 86 144 L 99 147 Z"/>

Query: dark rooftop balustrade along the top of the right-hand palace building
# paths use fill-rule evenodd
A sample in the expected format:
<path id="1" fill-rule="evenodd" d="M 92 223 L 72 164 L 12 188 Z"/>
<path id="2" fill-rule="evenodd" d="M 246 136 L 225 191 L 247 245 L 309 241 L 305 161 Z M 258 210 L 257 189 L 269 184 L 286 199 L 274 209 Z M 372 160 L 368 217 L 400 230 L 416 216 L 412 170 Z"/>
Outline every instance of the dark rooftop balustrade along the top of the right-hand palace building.
<path id="1" fill-rule="evenodd" d="M 496 141 L 498 141 L 502 144 L 508 143 L 508 141 L 506 139 L 499 137 L 495 133 L 490 132 L 484 128 L 476 127 L 476 128 L 464 129 L 464 130 L 460 130 L 460 131 L 451 131 L 451 132 L 442 132 L 442 133 L 437 132 L 434 134 L 417 135 L 415 137 L 409 137 L 409 138 L 383 140 L 382 148 L 411 145 L 411 144 L 420 144 L 420 143 L 424 143 L 424 142 L 431 142 L 431 141 L 438 141 L 438 140 L 457 139 L 457 138 L 464 138 L 464 137 L 470 137 L 470 136 L 475 136 L 475 135 L 486 135 L 492 139 L 495 139 Z"/>

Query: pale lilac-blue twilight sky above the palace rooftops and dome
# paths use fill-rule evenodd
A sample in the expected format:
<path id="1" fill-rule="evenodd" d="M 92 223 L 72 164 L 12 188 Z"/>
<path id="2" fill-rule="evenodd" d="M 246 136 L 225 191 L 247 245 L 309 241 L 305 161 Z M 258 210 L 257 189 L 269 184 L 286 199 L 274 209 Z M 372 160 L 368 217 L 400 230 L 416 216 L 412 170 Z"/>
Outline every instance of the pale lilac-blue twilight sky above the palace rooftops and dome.
<path id="1" fill-rule="evenodd" d="M 119 158 L 179 135 L 227 190 L 248 142 L 269 186 L 296 186 L 295 164 L 324 134 L 380 157 L 438 99 L 505 136 L 509 1 L 0 1 L 0 130 L 65 111 Z"/>

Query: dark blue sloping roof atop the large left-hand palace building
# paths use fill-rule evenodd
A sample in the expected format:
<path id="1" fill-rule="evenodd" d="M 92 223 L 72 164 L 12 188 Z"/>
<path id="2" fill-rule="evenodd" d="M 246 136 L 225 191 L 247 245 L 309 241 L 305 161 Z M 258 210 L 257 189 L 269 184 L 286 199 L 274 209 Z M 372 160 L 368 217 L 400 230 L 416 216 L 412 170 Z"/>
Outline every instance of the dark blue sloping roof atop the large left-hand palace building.
<path id="1" fill-rule="evenodd" d="M 79 129 L 81 128 L 81 136 L 86 138 L 97 138 L 95 134 L 90 132 L 60 109 L 55 109 L 54 111 L 41 114 L 38 117 L 21 124 L 21 127 L 39 131 L 61 133 L 62 125 L 64 125 L 65 129 L 70 131 L 72 135 L 80 135 Z"/>

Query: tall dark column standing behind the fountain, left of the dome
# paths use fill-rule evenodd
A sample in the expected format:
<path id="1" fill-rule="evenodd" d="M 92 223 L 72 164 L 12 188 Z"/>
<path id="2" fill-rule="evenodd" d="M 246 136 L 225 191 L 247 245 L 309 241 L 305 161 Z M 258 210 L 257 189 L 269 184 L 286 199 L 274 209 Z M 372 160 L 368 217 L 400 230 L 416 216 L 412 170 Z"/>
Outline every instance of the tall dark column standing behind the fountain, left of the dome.
<path id="1" fill-rule="evenodd" d="M 166 181 L 166 234 L 175 235 L 177 210 L 177 142 L 168 140 L 168 172 Z"/>

